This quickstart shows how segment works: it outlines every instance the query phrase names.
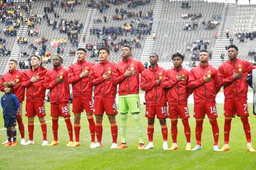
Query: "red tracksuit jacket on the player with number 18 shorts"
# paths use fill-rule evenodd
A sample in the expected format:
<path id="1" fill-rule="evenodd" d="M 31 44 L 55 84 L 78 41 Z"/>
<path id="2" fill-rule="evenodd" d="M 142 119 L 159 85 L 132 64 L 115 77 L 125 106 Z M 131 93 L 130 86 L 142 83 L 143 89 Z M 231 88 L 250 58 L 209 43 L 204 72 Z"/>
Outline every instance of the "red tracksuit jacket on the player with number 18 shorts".
<path id="1" fill-rule="evenodd" d="M 63 83 L 57 84 L 56 79 L 63 79 Z M 68 103 L 70 100 L 70 91 L 68 86 L 68 69 L 60 65 L 56 69 L 48 71 L 46 89 L 50 89 L 50 103 Z"/>

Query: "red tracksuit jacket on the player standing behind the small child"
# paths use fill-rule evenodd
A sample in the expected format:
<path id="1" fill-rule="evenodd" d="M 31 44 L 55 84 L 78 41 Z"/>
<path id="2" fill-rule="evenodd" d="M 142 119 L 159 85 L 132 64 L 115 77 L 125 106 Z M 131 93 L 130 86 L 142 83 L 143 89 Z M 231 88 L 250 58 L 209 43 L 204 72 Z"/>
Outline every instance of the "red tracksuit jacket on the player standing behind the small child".
<path id="1" fill-rule="evenodd" d="M 24 101 L 25 89 L 22 86 L 23 73 L 21 71 L 14 69 L 13 71 L 9 71 L 4 74 L 0 81 L 1 91 L 4 91 L 4 82 L 13 80 L 15 80 L 18 84 L 14 86 L 11 92 L 17 96 L 19 102 Z"/>

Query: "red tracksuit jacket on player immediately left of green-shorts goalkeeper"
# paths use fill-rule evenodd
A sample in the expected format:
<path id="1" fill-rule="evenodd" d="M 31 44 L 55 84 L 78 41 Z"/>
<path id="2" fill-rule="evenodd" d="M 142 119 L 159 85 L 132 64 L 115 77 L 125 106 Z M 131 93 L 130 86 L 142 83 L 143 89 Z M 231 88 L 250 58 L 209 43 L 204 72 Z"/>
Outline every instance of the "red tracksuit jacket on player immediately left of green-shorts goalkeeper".
<path id="1" fill-rule="evenodd" d="M 103 74 L 111 74 L 110 80 L 105 80 Z M 115 98 L 117 94 L 117 66 L 107 61 L 95 64 L 91 69 L 90 81 L 95 86 L 95 98 Z"/>

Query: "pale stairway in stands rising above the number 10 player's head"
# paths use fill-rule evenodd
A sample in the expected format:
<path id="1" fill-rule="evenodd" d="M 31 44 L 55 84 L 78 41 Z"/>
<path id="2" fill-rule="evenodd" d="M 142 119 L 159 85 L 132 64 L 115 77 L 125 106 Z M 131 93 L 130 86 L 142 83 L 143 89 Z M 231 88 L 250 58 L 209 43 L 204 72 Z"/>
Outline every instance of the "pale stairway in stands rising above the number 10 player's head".
<path id="1" fill-rule="evenodd" d="M 160 21 L 161 11 L 163 6 L 164 6 L 163 0 L 156 0 L 156 4 L 154 6 L 154 13 L 153 13 L 154 21 L 153 21 L 151 34 L 156 33 L 159 28 L 159 21 Z M 157 34 L 156 34 L 156 37 L 157 37 Z M 149 61 L 149 55 L 151 54 L 151 52 L 153 52 L 153 49 L 154 49 L 154 39 L 152 36 L 148 36 L 146 38 L 146 42 L 142 52 L 142 57 L 141 57 L 142 62 Z"/>

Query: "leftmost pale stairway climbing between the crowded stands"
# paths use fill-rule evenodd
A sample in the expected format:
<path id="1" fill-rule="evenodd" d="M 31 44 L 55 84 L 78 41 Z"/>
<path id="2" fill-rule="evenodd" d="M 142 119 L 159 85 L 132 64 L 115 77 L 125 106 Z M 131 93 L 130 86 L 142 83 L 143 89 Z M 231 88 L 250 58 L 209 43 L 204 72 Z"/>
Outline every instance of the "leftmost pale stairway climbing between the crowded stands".
<path id="1" fill-rule="evenodd" d="M 31 2 L 31 10 L 29 11 L 29 13 L 25 14 L 25 17 L 31 16 L 33 14 L 33 6 L 34 6 L 34 1 Z M 22 36 L 24 38 L 26 38 L 26 35 L 28 33 L 28 26 L 26 25 L 26 23 L 21 23 L 21 26 L 18 30 L 17 33 L 17 37 Z M 18 45 L 17 41 L 15 40 L 14 42 L 14 47 L 11 50 L 11 56 L 9 57 L 9 60 L 16 60 L 18 61 L 19 57 L 21 57 L 21 45 Z M 6 67 L 5 69 L 0 71 L 0 74 L 4 74 L 5 72 L 8 72 L 9 70 L 9 65 L 8 63 L 6 63 Z"/>

